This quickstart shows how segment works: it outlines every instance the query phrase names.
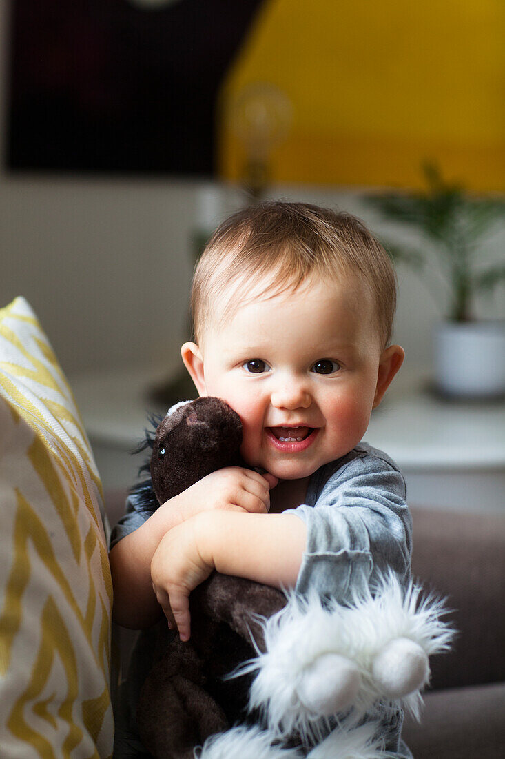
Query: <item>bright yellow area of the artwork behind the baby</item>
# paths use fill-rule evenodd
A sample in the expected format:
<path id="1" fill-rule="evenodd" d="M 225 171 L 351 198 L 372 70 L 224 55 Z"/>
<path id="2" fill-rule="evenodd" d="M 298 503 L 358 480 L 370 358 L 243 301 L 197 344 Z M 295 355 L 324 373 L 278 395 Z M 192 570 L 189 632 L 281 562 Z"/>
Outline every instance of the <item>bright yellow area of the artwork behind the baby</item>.
<path id="1" fill-rule="evenodd" d="M 221 174 L 240 178 L 227 121 L 249 83 L 293 106 L 272 181 L 417 186 L 419 165 L 476 191 L 505 189 L 502 0 L 270 0 L 221 92 Z"/>

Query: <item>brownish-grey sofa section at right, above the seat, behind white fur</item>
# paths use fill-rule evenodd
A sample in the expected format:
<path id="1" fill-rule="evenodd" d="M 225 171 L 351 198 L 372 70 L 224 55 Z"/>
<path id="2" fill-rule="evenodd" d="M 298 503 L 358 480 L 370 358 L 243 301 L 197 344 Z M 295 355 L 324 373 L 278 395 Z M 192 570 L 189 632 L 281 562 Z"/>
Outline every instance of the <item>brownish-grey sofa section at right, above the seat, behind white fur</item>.
<path id="1" fill-rule="evenodd" d="M 447 596 L 453 651 L 431 660 L 433 688 L 505 681 L 505 515 L 412 508 L 412 573 Z"/>

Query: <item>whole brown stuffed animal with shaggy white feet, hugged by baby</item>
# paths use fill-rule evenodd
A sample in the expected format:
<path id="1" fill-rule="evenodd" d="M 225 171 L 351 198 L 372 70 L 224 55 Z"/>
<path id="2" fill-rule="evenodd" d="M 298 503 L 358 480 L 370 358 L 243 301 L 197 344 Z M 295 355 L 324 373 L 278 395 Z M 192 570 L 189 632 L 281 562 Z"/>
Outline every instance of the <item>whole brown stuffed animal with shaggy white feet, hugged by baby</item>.
<path id="1" fill-rule="evenodd" d="M 150 477 L 134 492 L 155 509 L 218 468 L 245 466 L 241 439 L 240 417 L 218 398 L 177 404 L 148 436 Z M 418 713 L 428 657 L 453 635 L 441 602 L 419 603 L 419 587 L 405 593 L 392 574 L 340 606 L 214 572 L 190 613 L 186 643 L 158 625 L 137 707 L 159 759 L 391 756 L 362 716 L 384 702 Z"/>

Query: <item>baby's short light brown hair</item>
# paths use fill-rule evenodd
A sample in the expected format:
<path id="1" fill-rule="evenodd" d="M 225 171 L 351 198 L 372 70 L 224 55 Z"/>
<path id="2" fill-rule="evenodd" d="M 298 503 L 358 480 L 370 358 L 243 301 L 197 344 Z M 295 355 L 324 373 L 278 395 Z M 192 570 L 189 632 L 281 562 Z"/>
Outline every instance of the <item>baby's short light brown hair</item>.
<path id="1" fill-rule="evenodd" d="M 248 300 L 253 285 L 271 279 L 265 294 L 296 289 L 312 275 L 328 281 L 354 276 L 372 293 L 384 347 L 391 340 L 396 276 L 384 248 L 360 219 L 309 203 L 257 203 L 216 229 L 196 266 L 191 291 L 196 342 L 216 298 L 234 285 L 223 316 Z"/>

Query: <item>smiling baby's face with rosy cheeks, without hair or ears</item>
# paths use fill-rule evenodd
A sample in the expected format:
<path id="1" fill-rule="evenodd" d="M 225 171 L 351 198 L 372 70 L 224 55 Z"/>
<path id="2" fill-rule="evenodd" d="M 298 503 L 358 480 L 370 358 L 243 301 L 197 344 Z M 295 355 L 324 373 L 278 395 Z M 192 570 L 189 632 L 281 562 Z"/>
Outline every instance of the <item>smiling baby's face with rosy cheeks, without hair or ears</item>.
<path id="1" fill-rule="evenodd" d="M 212 320 L 199 348 L 200 394 L 237 411 L 243 458 L 281 479 L 308 477 L 353 449 L 380 400 L 372 298 L 350 281 L 259 295 Z"/>

